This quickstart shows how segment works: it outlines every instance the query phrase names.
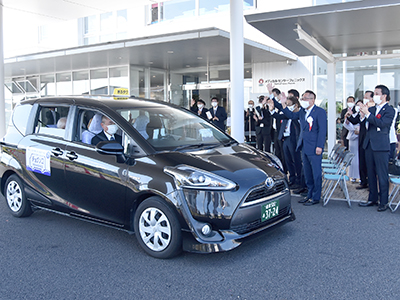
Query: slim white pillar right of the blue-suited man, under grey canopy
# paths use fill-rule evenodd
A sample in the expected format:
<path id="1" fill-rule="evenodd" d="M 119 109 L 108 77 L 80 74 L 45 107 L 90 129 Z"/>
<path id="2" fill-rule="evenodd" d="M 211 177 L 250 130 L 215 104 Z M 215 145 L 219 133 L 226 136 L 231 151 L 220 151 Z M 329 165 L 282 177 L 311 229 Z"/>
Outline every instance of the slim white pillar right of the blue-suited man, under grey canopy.
<path id="1" fill-rule="evenodd" d="M 328 73 L 328 153 L 336 144 L 336 63 L 327 64 Z"/>

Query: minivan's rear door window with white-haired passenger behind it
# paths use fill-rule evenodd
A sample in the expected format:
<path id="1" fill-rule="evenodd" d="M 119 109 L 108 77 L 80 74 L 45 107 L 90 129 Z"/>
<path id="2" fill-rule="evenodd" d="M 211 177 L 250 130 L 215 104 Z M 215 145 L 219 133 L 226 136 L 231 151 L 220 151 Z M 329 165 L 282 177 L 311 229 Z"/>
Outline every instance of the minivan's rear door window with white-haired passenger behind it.
<path id="1" fill-rule="evenodd" d="M 69 107 L 40 106 L 35 120 L 35 133 L 64 138 Z"/>

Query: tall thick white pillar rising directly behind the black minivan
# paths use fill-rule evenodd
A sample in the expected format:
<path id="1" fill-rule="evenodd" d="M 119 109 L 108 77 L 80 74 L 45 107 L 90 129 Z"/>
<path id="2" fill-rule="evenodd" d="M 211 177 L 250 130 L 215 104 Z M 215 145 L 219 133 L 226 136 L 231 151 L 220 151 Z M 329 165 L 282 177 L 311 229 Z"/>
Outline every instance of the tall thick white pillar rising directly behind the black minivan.
<path id="1" fill-rule="evenodd" d="M 243 1 L 230 0 L 231 135 L 244 142 Z"/>

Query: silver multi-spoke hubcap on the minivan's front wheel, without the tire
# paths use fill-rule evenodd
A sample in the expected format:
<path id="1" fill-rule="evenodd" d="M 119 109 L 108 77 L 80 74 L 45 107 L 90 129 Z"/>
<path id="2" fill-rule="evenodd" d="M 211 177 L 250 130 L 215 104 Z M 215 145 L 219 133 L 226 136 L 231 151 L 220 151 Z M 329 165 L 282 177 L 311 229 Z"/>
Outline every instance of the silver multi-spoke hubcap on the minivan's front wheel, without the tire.
<path id="1" fill-rule="evenodd" d="M 140 215 L 139 232 L 143 242 L 153 251 L 162 251 L 171 242 L 171 225 L 166 215 L 155 207 Z"/>

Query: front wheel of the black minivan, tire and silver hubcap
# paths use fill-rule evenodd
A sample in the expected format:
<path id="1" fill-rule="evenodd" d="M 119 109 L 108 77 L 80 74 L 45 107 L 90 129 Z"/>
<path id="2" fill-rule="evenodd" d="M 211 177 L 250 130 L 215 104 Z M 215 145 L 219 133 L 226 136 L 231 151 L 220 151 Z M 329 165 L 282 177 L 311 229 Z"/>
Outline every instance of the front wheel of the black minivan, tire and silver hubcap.
<path id="1" fill-rule="evenodd" d="M 134 230 L 140 246 L 153 257 L 171 258 L 182 250 L 176 213 L 159 197 L 140 203 L 134 216 Z"/>

